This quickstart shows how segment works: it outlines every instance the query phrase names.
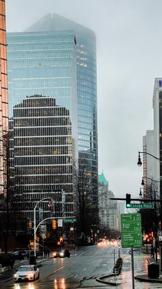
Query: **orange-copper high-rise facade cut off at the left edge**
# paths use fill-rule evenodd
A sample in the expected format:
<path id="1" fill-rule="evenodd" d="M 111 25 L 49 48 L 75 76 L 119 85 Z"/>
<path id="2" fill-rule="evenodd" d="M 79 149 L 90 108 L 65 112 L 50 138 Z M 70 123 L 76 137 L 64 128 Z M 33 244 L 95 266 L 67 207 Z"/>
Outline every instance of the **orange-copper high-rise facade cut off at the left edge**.
<path id="1" fill-rule="evenodd" d="M 0 195 L 3 194 L 7 181 L 8 146 L 8 70 L 7 44 L 5 30 L 5 1 L 0 0 Z"/>

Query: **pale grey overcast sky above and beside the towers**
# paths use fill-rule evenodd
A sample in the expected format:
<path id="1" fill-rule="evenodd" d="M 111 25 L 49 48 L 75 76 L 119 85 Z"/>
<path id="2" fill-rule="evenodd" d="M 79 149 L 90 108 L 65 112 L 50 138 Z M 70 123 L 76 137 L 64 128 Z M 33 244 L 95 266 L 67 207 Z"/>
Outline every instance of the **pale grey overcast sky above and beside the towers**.
<path id="1" fill-rule="evenodd" d="M 139 197 L 142 137 L 153 128 L 154 78 L 162 77 L 161 0 L 6 0 L 7 32 L 49 12 L 97 37 L 99 172 L 115 197 Z"/>

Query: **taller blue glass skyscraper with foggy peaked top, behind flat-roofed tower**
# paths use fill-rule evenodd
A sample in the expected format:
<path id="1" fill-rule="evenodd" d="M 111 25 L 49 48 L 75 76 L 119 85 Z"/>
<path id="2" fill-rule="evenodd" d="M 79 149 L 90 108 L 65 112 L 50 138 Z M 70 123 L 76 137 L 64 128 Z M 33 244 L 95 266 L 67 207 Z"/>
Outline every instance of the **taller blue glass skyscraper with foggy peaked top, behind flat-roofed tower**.
<path id="1" fill-rule="evenodd" d="M 97 69 L 95 34 L 89 28 L 58 14 L 47 14 L 27 32 L 73 30 L 76 34 L 77 95 L 78 95 L 78 152 L 80 163 L 86 164 L 94 184 L 94 203 L 97 203 Z"/>

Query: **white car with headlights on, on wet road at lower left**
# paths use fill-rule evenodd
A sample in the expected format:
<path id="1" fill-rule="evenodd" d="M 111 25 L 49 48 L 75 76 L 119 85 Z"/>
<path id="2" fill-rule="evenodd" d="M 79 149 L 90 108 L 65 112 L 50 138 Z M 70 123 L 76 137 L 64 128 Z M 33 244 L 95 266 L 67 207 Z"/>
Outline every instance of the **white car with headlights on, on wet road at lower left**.
<path id="1" fill-rule="evenodd" d="M 35 265 L 21 266 L 14 274 L 14 280 L 35 280 L 39 278 L 39 270 Z"/>

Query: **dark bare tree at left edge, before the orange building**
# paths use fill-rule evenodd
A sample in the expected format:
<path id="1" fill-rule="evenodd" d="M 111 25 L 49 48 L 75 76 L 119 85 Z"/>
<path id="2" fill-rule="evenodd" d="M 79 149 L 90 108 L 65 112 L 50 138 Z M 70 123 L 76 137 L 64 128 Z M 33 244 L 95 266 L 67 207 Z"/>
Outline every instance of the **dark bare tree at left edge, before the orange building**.
<path id="1" fill-rule="evenodd" d="M 10 135 L 9 132 L 3 136 L 3 152 L 5 158 L 3 161 L 4 174 L 4 193 L 0 195 L 0 237 L 1 246 L 5 253 L 8 252 L 8 238 L 10 235 L 16 236 L 16 225 L 23 224 L 24 229 L 27 229 L 27 219 L 20 212 L 21 204 L 21 189 L 20 186 L 15 186 L 14 178 L 10 176 Z M 20 177 L 21 179 L 21 177 Z"/>

